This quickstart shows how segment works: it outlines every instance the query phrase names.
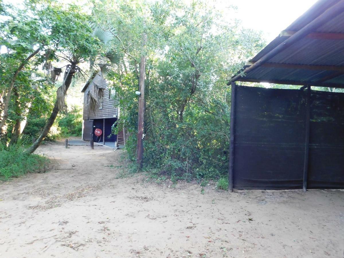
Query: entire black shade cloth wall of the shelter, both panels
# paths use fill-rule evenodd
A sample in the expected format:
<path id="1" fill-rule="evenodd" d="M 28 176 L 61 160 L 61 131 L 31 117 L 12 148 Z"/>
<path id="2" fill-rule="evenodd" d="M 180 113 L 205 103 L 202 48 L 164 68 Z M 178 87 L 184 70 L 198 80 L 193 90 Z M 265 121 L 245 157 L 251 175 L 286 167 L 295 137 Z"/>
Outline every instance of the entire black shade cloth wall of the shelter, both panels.
<path id="1" fill-rule="evenodd" d="M 306 91 L 236 90 L 234 188 L 302 189 Z M 344 188 L 344 94 L 312 91 L 310 105 L 308 188 Z"/>

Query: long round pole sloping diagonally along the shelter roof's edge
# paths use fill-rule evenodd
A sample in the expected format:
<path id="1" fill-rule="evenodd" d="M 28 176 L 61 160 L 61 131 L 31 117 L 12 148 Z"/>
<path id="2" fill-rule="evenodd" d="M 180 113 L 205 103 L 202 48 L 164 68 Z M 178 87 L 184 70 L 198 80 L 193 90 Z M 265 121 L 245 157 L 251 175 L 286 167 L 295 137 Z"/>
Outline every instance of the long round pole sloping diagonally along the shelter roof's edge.
<path id="1" fill-rule="evenodd" d="M 264 55 L 262 58 L 260 58 L 255 64 L 251 65 L 250 67 L 247 67 L 243 74 L 248 74 L 249 72 L 253 71 L 254 69 L 258 68 L 260 65 L 266 63 L 269 61 L 272 57 L 276 56 L 281 51 L 287 49 L 291 45 L 293 45 L 295 42 L 299 41 L 300 39 L 303 39 L 308 34 L 312 33 L 316 29 L 318 29 L 320 26 L 322 26 L 324 23 L 332 20 L 333 18 L 337 17 L 339 14 L 344 12 L 344 0 L 341 0 L 331 6 L 329 9 L 324 11 L 322 14 L 320 14 L 317 18 L 315 18 L 313 21 L 308 23 L 306 26 L 304 26 L 301 30 L 293 34 L 292 36 L 288 37 L 285 41 L 283 41 L 281 44 L 276 46 L 273 50 L 271 50 L 269 53 Z M 241 78 L 242 75 L 238 74 L 234 76 L 227 85 L 230 85 L 232 82 L 235 82 L 237 79 Z"/>

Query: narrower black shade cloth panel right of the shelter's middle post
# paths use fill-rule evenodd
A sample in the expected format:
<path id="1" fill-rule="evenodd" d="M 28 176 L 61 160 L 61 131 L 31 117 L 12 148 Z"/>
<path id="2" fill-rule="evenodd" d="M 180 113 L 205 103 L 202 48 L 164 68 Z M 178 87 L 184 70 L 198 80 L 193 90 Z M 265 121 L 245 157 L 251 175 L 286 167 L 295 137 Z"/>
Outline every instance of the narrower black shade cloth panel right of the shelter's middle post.
<path id="1" fill-rule="evenodd" d="M 344 94 L 312 90 L 308 188 L 344 188 Z"/>

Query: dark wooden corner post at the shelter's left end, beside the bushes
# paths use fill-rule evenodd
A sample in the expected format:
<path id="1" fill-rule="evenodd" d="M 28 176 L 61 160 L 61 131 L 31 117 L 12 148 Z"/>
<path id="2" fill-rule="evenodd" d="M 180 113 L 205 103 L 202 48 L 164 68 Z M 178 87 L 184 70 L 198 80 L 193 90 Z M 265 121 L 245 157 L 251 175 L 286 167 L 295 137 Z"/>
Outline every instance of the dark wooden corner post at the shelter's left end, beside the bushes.
<path id="1" fill-rule="evenodd" d="M 228 191 L 233 192 L 234 181 L 234 147 L 235 147 L 235 103 L 236 85 L 232 83 L 230 99 L 230 146 L 229 146 L 229 169 L 228 169 Z"/>

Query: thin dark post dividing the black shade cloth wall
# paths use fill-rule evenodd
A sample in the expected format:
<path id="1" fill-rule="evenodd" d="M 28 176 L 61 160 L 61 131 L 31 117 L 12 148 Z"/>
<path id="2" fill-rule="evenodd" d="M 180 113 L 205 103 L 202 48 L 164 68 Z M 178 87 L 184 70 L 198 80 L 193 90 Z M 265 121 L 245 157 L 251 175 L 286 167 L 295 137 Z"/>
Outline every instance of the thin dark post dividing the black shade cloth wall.
<path id="1" fill-rule="evenodd" d="M 310 119 L 311 119 L 311 86 L 308 85 L 307 86 L 307 94 L 306 94 L 305 144 L 304 144 L 304 163 L 303 163 L 303 192 L 307 191 Z"/>

